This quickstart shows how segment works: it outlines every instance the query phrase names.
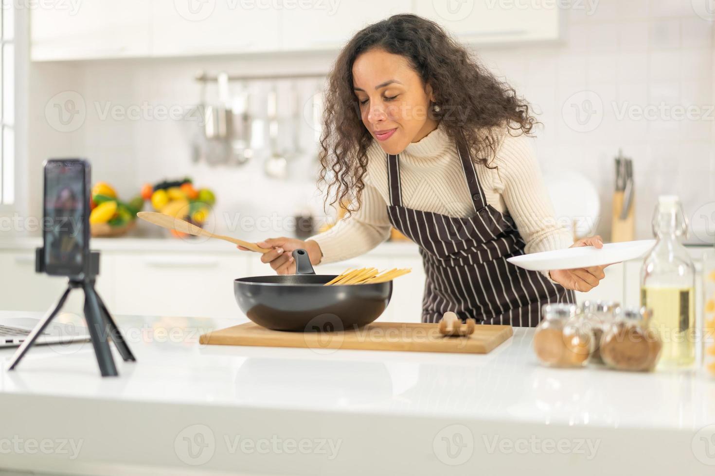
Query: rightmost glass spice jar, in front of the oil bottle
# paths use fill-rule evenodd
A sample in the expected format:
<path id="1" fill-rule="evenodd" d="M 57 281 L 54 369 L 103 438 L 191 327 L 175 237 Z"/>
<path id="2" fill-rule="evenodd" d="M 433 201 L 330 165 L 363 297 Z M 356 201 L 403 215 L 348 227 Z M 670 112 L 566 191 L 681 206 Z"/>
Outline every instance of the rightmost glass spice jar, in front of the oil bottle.
<path id="1" fill-rule="evenodd" d="M 616 370 L 650 371 L 656 367 L 663 344 L 649 324 L 646 308 L 616 308 L 613 322 L 603 330 L 601 358 Z"/>

